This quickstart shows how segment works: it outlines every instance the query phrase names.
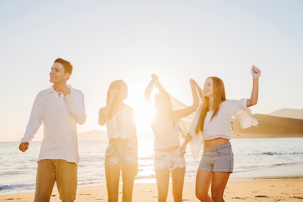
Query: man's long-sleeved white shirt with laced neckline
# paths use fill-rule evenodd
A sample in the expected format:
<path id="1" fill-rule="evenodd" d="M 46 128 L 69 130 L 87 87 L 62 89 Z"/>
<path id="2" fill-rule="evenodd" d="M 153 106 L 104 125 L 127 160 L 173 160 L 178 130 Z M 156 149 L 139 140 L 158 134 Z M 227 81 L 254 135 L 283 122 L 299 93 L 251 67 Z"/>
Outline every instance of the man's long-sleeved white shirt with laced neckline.
<path id="1" fill-rule="evenodd" d="M 42 159 L 63 159 L 68 162 L 80 162 L 77 141 L 77 124 L 84 124 L 86 113 L 84 95 L 73 89 L 64 96 L 59 95 L 51 86 L 37 94 L 30 121 L 22 142 L 31 142 L 40 125 L 44 125 L 44 137 L 38 161 Z"/>

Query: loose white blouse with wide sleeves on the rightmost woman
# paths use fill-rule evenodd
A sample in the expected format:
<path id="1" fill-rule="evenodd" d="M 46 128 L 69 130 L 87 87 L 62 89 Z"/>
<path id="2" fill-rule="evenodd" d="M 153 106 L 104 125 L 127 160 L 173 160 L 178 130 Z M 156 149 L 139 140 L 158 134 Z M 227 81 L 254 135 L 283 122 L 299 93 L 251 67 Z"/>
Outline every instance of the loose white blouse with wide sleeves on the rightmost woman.
<path id="1" fill-rule="evenodd" d="M 200 107 L 199 105 L 196 110 L 196 115 L 193 123 L 190 126 L 189 133 L 192 135 L 193 140 L 191 142 L 191 147 L 193 154 L 197 153 L 201 148 L 201 136 L 203 140 L 213 140 L 216 138 L 224 138 L 227 140 L 231 140 L 231 119 L 232 117 L 238 118 L 241 127 L 248 128 L 252 125 L 257 126 L 258 121 L 253 116 L 251 110 L 247 108 L 246 105 L 247 99 L 241 100 L 225 100 L 221 103 L 220 109 L 216 116 L 212 117 L 212 111 L 207 112 L 205 120 L 203 132 L 199 132 L 196 134 L 195 129 L 200 116 Z M 194 155 L 195 157 L 195 155 Z"/>

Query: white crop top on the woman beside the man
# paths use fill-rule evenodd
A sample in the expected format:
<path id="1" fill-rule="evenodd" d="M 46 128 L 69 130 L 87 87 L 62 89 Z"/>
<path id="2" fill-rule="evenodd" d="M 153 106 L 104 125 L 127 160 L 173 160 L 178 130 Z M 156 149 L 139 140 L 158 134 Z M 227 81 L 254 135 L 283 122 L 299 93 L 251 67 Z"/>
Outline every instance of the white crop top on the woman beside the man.
<path id="1" fill-rule="evenodd" d="M 116 111 L 112 119 L 107 119 L 107 138 L 131 138 L 132 128 L 135 125 L 134 109 L 125 105 L 121 111 Z"/>

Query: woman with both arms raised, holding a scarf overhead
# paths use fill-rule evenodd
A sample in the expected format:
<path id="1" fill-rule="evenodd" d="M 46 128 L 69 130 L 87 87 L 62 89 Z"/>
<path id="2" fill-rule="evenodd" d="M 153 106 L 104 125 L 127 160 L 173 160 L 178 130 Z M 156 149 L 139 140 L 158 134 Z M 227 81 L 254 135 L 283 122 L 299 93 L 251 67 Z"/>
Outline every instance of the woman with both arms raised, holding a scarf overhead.
<path id="1" fill-rule="evenodd" d="M 166 202 L 168 193 L 169 173 L 172 176 L 172 190 L 174 202 L 182 202 L 182 190 L 185 175 L 185 150 L 180 150 L 179 123 L 178 119 L 193 113 L 198 105 L 198 97 L 195 88 L 195 81 L 191 80 L 190 85 L 193 92 L 193 105 L 181 110 L 173 110 L 169 94 L 161 88 L 158 77 L 152 75 L 152 80 L 146 88 L 145 98 L 151 103 L 151 92 L 156 84 L 159 93 L 155 95 L 156 114 L 151 123 L 155 134 L 155 156 L 154 166 L 158 188 L 158 202 Z"/>

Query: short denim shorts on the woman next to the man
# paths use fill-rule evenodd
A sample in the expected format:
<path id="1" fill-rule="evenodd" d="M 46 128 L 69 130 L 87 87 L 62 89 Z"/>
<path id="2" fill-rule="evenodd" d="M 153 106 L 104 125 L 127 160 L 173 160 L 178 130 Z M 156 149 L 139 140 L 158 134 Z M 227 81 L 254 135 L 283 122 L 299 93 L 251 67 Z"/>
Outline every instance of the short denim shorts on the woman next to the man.
<path id="1" fill-rule="evenodd" d="M 110 165 L 117 164 L 120 167 L 126 164 L 137 163 L 136 151 L 133 151 L 132 143 L 108 143 L 105 152 L 105 163 Z"/>

